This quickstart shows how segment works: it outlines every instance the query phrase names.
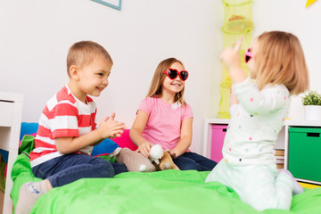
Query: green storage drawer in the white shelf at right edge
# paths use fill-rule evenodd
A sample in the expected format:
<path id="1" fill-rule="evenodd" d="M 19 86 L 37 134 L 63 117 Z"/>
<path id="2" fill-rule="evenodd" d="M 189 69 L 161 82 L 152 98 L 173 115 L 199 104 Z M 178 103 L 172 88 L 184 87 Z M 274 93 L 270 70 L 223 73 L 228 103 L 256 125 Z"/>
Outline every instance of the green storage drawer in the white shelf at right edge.
<path id="1" fill-rule="evenodd" d="M 289 128 L 293 177 L 321 182 L 321 128 Z"/>

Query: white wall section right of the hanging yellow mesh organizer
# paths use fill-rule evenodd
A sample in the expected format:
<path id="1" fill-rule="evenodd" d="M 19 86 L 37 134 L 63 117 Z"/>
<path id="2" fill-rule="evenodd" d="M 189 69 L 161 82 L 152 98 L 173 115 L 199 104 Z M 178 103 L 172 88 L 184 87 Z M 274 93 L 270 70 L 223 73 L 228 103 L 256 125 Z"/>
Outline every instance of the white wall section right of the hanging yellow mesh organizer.
<path id="1" fill-rule="evenodd" d="M 253 1 L 252 18 L 254 35 L 268 30 L 284 30 L 295 34 L 305 53 L 309 69 L 310 89 L 321 93 L 320 56 L 321 47 L 321 1 L 305 7 L 302 0 L 266 0 Z M 304 110 L 300 101 L 302 95 L 292 97 L 292 106 L 288 118 L 304 119 Z"/>

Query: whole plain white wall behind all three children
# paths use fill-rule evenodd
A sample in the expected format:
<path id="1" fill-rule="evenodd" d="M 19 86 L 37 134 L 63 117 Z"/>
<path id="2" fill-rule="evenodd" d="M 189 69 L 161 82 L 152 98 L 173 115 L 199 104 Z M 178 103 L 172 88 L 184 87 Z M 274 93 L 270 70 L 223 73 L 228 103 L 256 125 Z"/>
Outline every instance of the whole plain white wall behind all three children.
<path id="1" fill-rule="evenodd" d="M 253 36 L 280 29 L 303 45 L 311 88 L 318 84 L 321 2 L 254 0 Z M 223 22 L 220 0 L 122 0 L 122 10 L 90 0 L 0 1 L 0 91 L 22 93 L 22 121 L 37 122 L 45 102 L 67 84 L 65 58 L 79 40 L 103 45 L 114 61 L 110 85 L 99 98 L 98 121 L 112 111 L 131 127 L 157 64 L 168 57 L 185 62 L 190 78 L 185 99 L 193 107 L 193 146 L 202 151 L 203 121 L 218 112 Z M 300 99 L 291 116 L 302 117 Z"/>

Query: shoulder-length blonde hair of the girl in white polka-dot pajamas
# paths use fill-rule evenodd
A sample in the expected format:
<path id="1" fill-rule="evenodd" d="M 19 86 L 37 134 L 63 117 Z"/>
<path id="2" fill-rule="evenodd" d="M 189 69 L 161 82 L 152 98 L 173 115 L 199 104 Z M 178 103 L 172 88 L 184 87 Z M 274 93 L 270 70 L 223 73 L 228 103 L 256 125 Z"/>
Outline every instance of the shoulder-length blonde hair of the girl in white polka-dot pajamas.
<path id="1" fill-rule="evenodd" d="M 255 62 L 259 90 L 268 84 L 283 84 L 291 95 L 309 89 L 309 72 L 298 37 L 283 31 L 258 37 Z"/>

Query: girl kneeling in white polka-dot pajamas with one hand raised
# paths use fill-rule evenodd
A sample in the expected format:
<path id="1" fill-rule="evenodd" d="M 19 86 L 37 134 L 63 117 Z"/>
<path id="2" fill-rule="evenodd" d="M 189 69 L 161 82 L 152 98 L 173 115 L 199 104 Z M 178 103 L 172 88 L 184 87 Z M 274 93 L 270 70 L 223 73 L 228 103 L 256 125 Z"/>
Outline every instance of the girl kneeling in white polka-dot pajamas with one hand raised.
<path id="1" fill-rule="evenodd" d="M 218 181 L 257 210 L 289 210 L 292 195 L 303 189 L 282 169 L 277 173 L 274 145 L 290 107 L 290 95 L 309 87 L 304 54 L 297 37 L 266 32 L 245 53 L 251 81 L 242 69 L 240 39 L 221 54 L 233 82 L 223 160 L 206 182 Z"/>

